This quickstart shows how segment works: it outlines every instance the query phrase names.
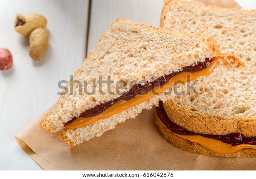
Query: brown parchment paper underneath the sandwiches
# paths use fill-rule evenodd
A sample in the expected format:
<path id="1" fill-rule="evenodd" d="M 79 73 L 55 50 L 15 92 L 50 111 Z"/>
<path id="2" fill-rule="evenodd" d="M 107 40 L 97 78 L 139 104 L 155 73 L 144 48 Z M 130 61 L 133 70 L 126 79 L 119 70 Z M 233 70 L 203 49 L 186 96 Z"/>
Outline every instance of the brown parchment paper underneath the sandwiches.
<path id="1" fill-rule="evenodd" d="M 51 108 L 15 136 L 44 170 L 256 170 L 256 158 L 209 157 L 174 147 L 155 125 L 154 109 L 70 149 L 58 133 L 37 129 Z"/>

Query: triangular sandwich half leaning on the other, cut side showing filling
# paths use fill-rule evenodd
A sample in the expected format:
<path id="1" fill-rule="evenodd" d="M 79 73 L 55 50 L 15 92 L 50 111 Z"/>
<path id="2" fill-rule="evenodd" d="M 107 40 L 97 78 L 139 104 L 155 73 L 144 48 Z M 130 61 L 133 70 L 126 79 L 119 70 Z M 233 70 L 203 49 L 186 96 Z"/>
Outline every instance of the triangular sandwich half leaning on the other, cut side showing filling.
<path id="1" fill-rule="evenodd" d="M 163 92 L 175 81 L 208 75 L 222 58 L 227 55 L 221 55 L 212 38 L 118 19 L 38 128 L 52 133 L 64 129 L 59 138 L 74 147 L 151 109 L 159 99 L 167 100 L 170 97 Z M 99 83 L 101 79 L 105 82 Z M 121 92 L 116 84 L 122 86 Z"/>

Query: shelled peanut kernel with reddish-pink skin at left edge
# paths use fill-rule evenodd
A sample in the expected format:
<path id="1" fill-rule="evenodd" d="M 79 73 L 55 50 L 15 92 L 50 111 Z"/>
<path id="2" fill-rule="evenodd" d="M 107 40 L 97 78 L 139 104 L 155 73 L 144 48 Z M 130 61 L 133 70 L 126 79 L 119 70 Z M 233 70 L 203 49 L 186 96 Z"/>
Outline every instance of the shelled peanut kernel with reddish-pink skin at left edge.
<path id="1" fill-rule="evenodd" d="M 8 49 L 0 48 L 0 70 L 12 67 L 12 54 Z"/>

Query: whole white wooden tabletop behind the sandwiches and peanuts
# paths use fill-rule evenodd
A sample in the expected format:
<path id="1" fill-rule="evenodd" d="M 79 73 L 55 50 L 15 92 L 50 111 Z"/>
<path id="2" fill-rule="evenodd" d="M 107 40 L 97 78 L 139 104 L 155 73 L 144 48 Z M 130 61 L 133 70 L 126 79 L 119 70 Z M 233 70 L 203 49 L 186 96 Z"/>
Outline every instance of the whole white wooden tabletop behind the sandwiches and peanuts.
<path id="1" fill-rule="evenodd" d="M 237 2 L 256 9 L 255 0 Z M 69 80 L 116 18 L 158 27 L 162 6 L 163 0 L 0 0 L 0 48 L 8 48 L 14 61 L 0 71 L 0 170 L 41 170 L 15 134 L 58 99 L 58 81 Z M 49 49 L 36 62 L 29 57 L 28 38 L 13 27 L 16 13 L 31 12 L 48 20 Z"/>

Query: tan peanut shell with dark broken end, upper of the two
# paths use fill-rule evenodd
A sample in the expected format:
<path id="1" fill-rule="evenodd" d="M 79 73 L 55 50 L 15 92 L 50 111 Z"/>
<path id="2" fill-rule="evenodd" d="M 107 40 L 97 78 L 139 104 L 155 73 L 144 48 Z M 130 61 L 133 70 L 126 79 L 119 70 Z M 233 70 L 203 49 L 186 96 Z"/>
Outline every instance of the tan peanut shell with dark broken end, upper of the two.
<path id="1" fill-rule="evenodd" d="M 15 21 L 15 30 L 25 36 L 39 27 L 45 28 L 47 25 L 46 18 L 41 14 L 31 13 L 26 15 L 17 14 Z"/>

